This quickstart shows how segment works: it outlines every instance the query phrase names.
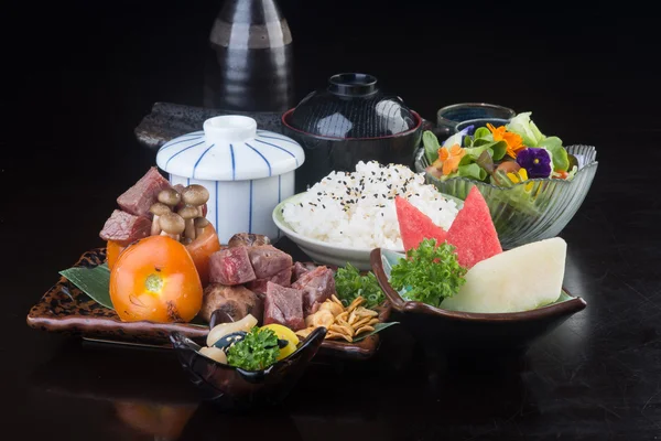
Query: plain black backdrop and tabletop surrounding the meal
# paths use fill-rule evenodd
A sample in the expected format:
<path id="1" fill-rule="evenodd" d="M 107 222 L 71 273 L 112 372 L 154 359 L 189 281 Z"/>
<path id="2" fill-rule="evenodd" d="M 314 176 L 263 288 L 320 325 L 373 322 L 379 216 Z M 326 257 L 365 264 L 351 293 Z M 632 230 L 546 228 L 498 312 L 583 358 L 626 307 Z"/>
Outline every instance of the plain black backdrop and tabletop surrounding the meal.
<path id="1" fill-rule="evenodd" d="M 256 427 L 262 439 L 661 439 L 658 19 L 635 2 L 577 3 L 281 0 L 299 98 L 332 74 L 367 72 L 427 119 L 495 103 L 532 110 L 565 144 L 597 147 L 593 189 L 562 234 L 568 288 L 588 309 L 522 370 L 443 374 L 380 354 L 367 367 L 318 367 L 259 420 L 198 411 L 186 439 Z M 3 14 L 3 431 L 147 440 L 118 421 L 111 397 L 196 402 L 169 355 L 82 348 L 24 320 L 57 270 L 102 245 L 115 197 L 154 162 L 133 135 L 153 103 L 202 105 L 220 4 L 23 2 Z"/>

